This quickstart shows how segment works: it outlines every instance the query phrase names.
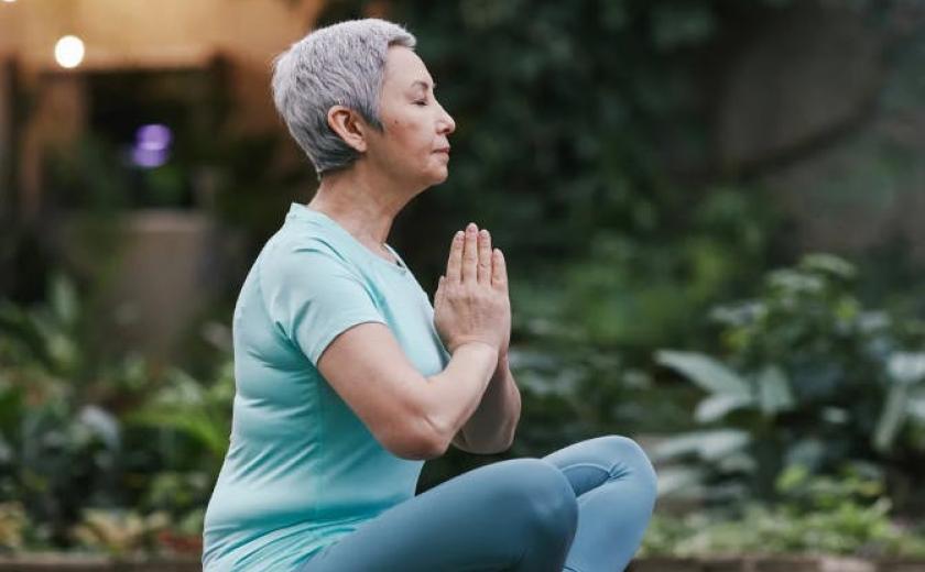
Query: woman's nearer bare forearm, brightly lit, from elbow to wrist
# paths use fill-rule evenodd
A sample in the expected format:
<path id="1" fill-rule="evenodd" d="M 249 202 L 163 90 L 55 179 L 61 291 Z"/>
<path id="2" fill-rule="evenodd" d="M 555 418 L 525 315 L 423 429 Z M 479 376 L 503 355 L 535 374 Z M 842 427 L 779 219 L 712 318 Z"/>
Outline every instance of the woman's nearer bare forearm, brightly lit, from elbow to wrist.
<path id="1" fill-rule="evenodd" d="M 498 362 L 498 351 L 490 345 L 466 343 L 456 349 L 443 372 L 427 378 L 424 415 L 446 447 L 483 400 Z"/>

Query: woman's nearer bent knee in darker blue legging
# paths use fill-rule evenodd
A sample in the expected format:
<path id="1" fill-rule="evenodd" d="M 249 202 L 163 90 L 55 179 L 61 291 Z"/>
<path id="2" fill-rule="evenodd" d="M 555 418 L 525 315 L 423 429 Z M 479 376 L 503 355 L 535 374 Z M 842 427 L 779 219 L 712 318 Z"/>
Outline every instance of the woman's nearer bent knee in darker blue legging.
<path id="1" fill-rule="evenodd" d="M 503 507 L 537 541 L 569 544 L 578 526 L 578 502 L 568 479 L 540 459 L 504 464 L 508 479 L 496 490 L 496 508 Z"/>

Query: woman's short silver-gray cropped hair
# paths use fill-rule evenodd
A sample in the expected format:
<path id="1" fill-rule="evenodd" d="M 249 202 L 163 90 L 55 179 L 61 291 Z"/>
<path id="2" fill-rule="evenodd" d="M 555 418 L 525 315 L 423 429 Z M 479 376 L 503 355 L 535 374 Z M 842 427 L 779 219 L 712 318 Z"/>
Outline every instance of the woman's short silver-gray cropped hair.
<path id="1" fill-rule="evenodd" d="M 379 94 L 389 47 L 414 48 L 416 42 L 392 22 L 349 20 L 313 31 L 273 61 L 273 102 L 318 178 L 359 157 L 328 125 L 328 110 L 350 108 L 381 130 Z"/>

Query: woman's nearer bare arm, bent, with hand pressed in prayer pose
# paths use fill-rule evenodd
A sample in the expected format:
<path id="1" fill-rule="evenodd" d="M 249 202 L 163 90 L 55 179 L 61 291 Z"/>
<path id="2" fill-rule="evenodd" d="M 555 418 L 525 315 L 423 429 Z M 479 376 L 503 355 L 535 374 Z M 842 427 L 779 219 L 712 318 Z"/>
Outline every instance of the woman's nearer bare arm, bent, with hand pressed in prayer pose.
<path id="1" fill-rule="evenodd" d="M 319 356 L 318 370 L 380 443 L 399 457 L 442 455 L 482 403 L 472 424 L 474 446 L 493 450 L 505 444 L 516 422 L 511 419 L 509 396 L 515 387 L 507 363 L 492 384 L 498 396 L 483 395 L 499 377 L 493 375 L 499 352 L 510 336 L 507 278 L 501 251 L 492 252 L 489 234 L 469 224 L 454 238 L 447 274 L 434 296 L 434 323 L 451 354 L 443 372 L 425 381 L 382 323 L 342 332 Z M 499 418 L 507 419 L 500 438 L 487 430 Z"/>

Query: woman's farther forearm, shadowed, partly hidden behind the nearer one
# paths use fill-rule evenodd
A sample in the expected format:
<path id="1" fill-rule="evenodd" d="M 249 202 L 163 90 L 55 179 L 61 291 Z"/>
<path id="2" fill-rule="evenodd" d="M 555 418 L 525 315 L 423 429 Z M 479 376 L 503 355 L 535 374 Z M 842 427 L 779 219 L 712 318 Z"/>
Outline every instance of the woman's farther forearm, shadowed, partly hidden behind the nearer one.
<path id="1" fill-rule="evenodd" d="M 467 449 L 499 453 L 511 447 L 521 413 L 521 396 L 507 356 L 499 359 L 478 407 L 463 426 Z"/>

